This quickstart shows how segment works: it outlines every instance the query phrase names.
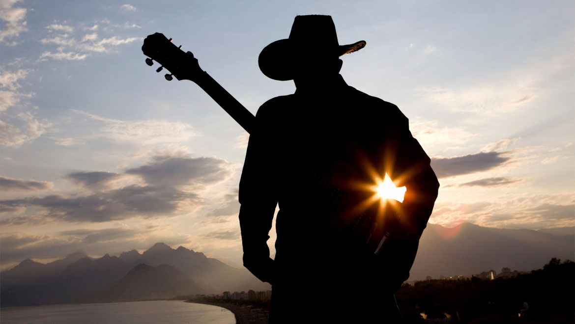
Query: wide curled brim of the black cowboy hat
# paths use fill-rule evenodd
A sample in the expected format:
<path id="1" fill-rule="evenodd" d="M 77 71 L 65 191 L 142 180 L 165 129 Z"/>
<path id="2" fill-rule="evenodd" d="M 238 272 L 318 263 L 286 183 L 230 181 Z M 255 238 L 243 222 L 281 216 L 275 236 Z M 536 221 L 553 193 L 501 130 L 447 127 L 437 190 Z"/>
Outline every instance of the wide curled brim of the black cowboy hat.
<path id="1" fill-rule="evenodd" d="M 347 53 L 359 51 L 364 48 L 366 41 L 358 41 L 353 44 L 339 45 L 336 49 L 336 55 L 342 56 Z M 310 44 L 313 46 L 313 44 Z M 267 45 L 259 53 L 259 69 L 270 79 L 278 81 L 287 81 L 293 79 L 294 60 L 293 52 L 305 52 L 305 48 L 294 48 L 289 39 L 274 41 Z"/>

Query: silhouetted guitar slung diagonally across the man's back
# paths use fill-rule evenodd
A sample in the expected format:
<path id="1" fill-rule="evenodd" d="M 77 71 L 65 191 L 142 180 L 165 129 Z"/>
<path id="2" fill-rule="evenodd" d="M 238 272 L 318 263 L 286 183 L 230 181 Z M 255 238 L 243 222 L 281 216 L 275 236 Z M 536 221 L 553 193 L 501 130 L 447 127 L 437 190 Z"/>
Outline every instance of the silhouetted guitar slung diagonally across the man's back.
<path id="1" fill-rule="evenodd" d="M 183 52 L 181 46 L 177 47 L 161 33 L 155 33 L 145 38 L 142 51 L 148 65 L 153 65 L 156 60 L 160 67 L 156 72 L 164 68 L 170 72 L 164 75 L 166 80 L 191 80 L 198 84 L 218 105 L 220 105 L 235 121 L 248 133 L 255 132 L 258 125 L 255 116 L 239 103 L 228 91 L 216 82 L 207 72 L 203 71 L 198 60 L 191 52 Z M 268 134 L 266 134 L 268 135 Z M 273 134 L 269 134 L 273 137 Z M 384 226 L 381 217 L 377 217 L 377 211 L 357 210 L 351 208 L 354 205 L 346 200 L 343 190 L 323 179 L 305 161 L 297 156 L 297 150 L 291 149 L 285 143 L 277 143 L 278 148 L 292 165 L 293 177 L 301 183 L 305 190 L 314 196 L 325 215 L 331 215 L 327 219 L 332 230 L 343 234 L 343 239 L 355 246 L 358 253 L 366 254 L 369 258 L 384 259 L 382 251 L 389 241 L 392 230 L 391 225 Z M 342 210 L 345 212 L 342 213 Z M 386 214 L 393 214 L 388 211 Z M 397 218 L 396 215 L 386 215 L 386 218 Z"/>

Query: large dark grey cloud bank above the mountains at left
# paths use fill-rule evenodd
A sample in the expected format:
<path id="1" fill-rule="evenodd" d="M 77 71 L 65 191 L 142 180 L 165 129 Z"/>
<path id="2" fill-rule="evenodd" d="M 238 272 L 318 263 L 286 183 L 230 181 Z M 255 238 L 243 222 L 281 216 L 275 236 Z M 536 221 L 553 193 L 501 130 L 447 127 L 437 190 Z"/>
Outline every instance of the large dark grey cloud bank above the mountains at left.
<path id="1" fill-rule="evenodd" d="M 147 185 L 131 184 L 109 190 L 106 184 L 119 179 L 121 174 L 73 172 L 66 178 L 90 188 L 92 194 L 2 200 L 0 203 L 4 213 L 22 213 L 24 209 L 28 214 L 4 218 L 0 223 L 16 225 L 49 220 L 98 223 L 134 217 L 157 218 L 189 214 L 204 202 L 197 192 L 185 190 L 203 190 L 208 184 L 228 179 L 232 173 L 232 164 L 215 157 L 155 157 L 150 164 L 125 172 L 141 176 Z M 186 186 L 185 190 L 175 187 L 190 184 L 194 186 Z"/>

